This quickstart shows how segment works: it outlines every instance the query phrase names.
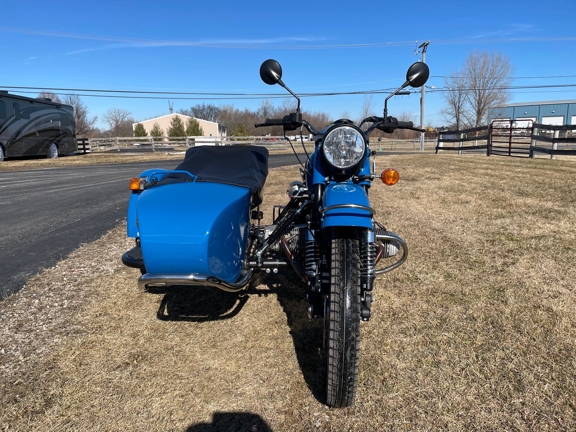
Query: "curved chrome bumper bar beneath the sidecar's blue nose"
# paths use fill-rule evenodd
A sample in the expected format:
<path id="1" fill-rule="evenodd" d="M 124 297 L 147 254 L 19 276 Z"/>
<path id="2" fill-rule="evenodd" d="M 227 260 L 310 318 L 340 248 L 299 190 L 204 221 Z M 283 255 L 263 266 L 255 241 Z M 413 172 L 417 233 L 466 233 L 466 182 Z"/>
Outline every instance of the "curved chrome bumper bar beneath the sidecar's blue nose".
<path id="1" fill-rule="evenodd" d="M 190 274 L 164 274 L 146 273 L 138 279 L 138 289 L 146 291 L 149 286 L 213 286 L 224 291 L 234 293 L 240 291 L 248 283 L 254 269 L 249 269 L 238 281 L 234 283 L 222 281 L 217 276 L 204 275 L 201 273 Z"/>

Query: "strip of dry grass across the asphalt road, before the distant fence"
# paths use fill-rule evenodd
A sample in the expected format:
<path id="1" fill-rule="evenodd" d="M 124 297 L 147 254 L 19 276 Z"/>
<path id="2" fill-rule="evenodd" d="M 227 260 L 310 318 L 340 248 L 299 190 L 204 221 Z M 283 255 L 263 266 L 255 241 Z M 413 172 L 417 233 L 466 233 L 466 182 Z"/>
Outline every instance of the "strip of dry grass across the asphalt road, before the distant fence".
<path id="1" fill-rule="evenodd" d="M 135 152 L 137 153 L 137 152 Z M 56 159 L 22 159 L 6 160 L 0 162 L 0 172 L 20 171 L 24 169 L 58 168 L 59 166 L 122 164 L 123 162 L 161 161 L 166 159 L 184 159 L 184 154 L 170 151 L 156 151 L 155 153 L 132 154 L 123 151 L 102 151 L 78 156 L 63 156 Z"/>

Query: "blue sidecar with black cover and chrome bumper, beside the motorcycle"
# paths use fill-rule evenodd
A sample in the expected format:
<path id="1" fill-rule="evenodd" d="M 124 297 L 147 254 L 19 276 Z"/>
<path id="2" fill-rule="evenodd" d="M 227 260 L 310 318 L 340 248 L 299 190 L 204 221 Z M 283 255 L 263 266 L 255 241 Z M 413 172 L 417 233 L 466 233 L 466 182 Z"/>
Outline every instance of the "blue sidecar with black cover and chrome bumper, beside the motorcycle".
<path id="1" fill-rule="evenodd" d="M 267 175 L 265 148 L 201 146 L 188 149 L 175 170 L 132 179 L 127 230 L 136 244 L 122 262 L 142 270 L 139 288 L 244 287 L 251 210 L 262 203 Z"/>

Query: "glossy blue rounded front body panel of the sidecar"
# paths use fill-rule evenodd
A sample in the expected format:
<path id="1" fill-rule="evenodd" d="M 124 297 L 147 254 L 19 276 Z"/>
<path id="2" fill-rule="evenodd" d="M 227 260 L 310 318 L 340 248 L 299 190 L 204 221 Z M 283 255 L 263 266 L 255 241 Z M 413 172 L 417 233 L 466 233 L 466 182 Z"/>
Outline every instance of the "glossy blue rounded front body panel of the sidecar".
<path id="1" fill-rule="evenodd" d="M 138 230 L 149 273 L 213 275 L 236 282 L 250 232 L 251 191 L 185 181 L 146 188 L 138 198 Z"/>

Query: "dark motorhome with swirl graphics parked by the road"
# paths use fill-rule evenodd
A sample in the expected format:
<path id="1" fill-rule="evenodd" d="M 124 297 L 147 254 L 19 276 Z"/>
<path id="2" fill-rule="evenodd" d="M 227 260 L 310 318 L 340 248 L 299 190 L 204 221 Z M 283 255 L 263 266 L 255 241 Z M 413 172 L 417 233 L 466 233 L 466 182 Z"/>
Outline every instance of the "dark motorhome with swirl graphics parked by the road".
<path id="1" fill-rule="evenodd" d="M 0 91 L 0 161 L 77 150 L 73 107 Z"/>

